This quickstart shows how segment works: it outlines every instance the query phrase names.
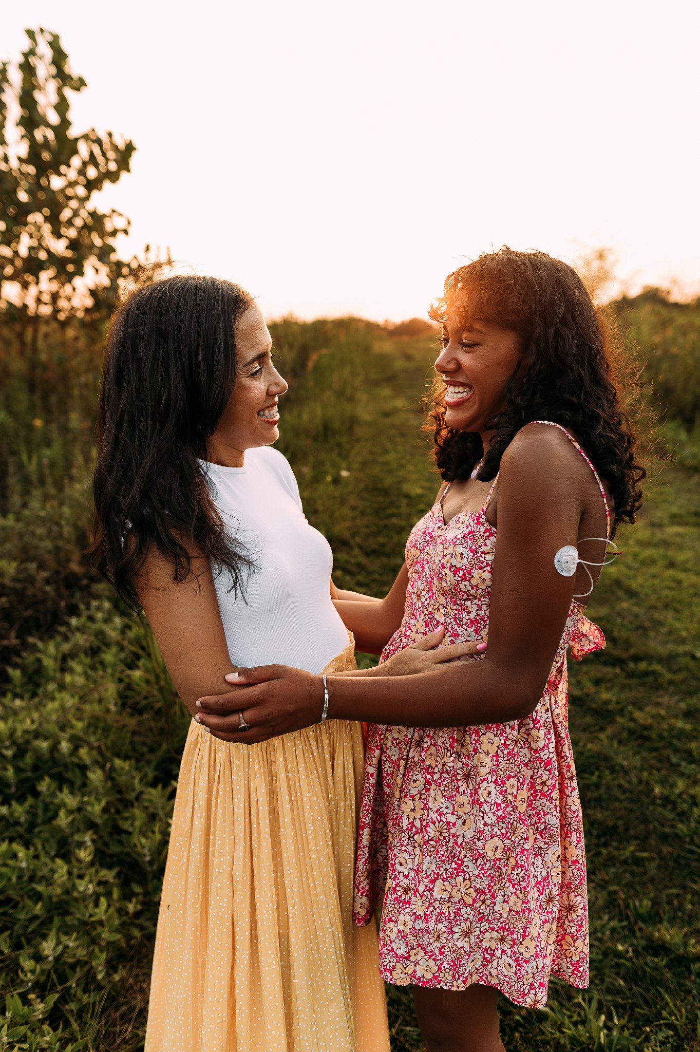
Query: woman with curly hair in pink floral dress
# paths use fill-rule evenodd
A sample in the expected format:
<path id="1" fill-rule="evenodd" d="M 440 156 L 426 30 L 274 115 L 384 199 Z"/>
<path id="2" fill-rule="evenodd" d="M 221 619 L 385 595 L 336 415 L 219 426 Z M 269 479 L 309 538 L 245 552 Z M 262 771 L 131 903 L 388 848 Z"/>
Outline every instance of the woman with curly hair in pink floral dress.
<path id="1" fill-rule="evenodd" d="M 412 986 L 431 1052 L 492 1052 L 498 991 L 541 1007 L 551 975 L 589 982 L 565 654 L 604 645 L 585 602 L 644 471 L 570 266 L 482 256 L 449 276 L 432 317 L 445 484 L 387 598 L 336 603 L 379 666 L 327 676 L 326 693 L 304 671 L 242 670 L 200 719 L 236 742 L 307 726 L 324 702 L 371 723 L 356 922 L 383 901 L 382 974 Z"/>

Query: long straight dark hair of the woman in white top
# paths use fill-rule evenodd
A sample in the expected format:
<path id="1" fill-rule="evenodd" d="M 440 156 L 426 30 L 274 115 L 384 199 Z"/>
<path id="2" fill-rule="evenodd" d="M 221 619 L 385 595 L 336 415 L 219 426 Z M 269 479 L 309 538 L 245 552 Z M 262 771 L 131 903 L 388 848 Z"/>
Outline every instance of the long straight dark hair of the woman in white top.
<path id="1" fill-rule="evenodd" d="M 132 609 L 135 578 L 155 546 L 174 581 L 203 554 L 240 591 L 251 568 L 226 532 L 199 460 L 236 375 L 235 323 L 252 305 L 230 281 L 177 276 L 144 285 L 117 310 L 98 410 L 91 565 Z"/>

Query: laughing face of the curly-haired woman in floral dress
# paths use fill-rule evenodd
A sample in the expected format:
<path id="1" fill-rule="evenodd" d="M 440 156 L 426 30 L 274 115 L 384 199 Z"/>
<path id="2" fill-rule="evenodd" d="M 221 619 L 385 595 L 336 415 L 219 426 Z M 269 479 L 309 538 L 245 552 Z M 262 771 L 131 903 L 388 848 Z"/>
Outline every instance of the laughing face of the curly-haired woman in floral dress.
<path id="1" fill-rule="evenodd" d="M 480 320 L 442 324 L 435 369 L 445 381 L 445 423 L 455 431 L 488 433 L 487 421 L 506 408 L 506 387 L 520 361 L 516 332 Z"/>

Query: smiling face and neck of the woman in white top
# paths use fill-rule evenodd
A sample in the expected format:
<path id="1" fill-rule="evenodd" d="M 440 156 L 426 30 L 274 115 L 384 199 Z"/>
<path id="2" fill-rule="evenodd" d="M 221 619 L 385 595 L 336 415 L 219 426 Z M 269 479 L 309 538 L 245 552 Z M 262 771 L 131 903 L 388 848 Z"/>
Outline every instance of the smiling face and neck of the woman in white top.
<path id="1" fill-rule="evenodd" d="M 277 402 L 288 385 L 272 364 L 271 351 L 265 319 L 253 303 L 235 325 L 235 383 L 217 429 L 207 440 L 210 462 L 242 467 L 246 449 L 269 446 L 280 438 Z"/>

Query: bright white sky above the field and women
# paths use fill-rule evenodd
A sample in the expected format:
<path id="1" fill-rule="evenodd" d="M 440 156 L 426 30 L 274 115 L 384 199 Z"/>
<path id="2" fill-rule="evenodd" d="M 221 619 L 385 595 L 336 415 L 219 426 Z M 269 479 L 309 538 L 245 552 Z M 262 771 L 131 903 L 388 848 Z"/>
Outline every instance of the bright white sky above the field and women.
<path id="1" fill-rule="evenodd" d="M 138 147 L 102 204 L 268 316 L 425 315 L 508 243 L 700 288 L 696 0 L 23 0 L 78 130 Z"/>

